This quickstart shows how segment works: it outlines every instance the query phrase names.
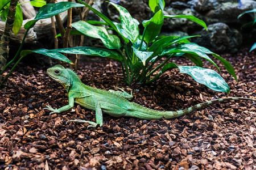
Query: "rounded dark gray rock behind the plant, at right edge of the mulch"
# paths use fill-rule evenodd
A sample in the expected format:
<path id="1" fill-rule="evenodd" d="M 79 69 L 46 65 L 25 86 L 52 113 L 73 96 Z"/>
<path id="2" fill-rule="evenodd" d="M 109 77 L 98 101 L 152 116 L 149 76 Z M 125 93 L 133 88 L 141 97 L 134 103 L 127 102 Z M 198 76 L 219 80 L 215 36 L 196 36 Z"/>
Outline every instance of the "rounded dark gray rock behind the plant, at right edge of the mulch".
<path id="1" fill-rule="evenodd" d="M 237 29 L 230 29 L 225 23 L 208 25 L 208 31 L 203 29 L 201 32 L 196 32 L 195 35 L 201 35 L 201 37 L 193 38 L 193 42 L 216 53 L 237 52 L 237 48 L 242 43 L 241 33 Z"/>

